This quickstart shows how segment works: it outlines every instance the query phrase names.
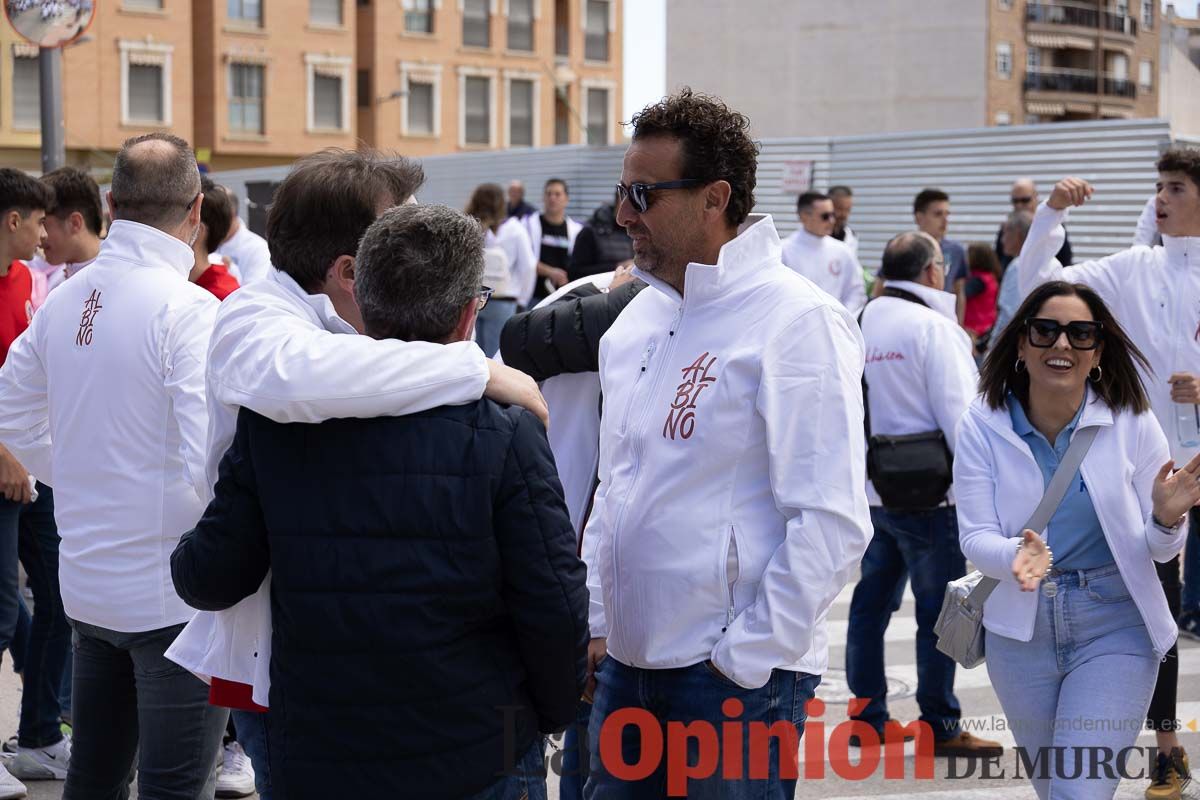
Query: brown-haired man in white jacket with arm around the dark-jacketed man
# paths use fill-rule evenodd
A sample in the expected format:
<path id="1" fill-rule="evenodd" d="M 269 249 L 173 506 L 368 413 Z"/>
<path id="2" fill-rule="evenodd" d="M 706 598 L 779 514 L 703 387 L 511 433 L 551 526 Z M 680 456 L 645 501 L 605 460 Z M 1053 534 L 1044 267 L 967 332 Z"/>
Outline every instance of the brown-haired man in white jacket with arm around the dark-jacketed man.
<path id="1" fill-rule="evenodd" d="M 397 156 L 328 150 L 296 162 L 276 191 L 268 241 L 277 269 L 221 305 L 208 360 L 209 439 L 203 498 L 212 498 L 217 467 L 248 408 L 276 422 L 413 414 L 467 403 L 485 393 L 523 405 L 542 420 L 530 378 L 488 361 L 473 342 L 432 344 L 358 336 L 354 257 L 376 213 L 410 201 L 421 167 Z M 188 625 L 188 666 L 251 684 L 266 705 L 270 663 L 269 584 L 224 612 Z M 250 634 L 250 638 L 245 638 Z M 203 649 L 206 646 L 208 649 Z M 217 672 L 220 663 L 226 664 Z M 259 793 L 269 786 L 265 721 L 234 712 L 238 736 L 254 763 Z"/>

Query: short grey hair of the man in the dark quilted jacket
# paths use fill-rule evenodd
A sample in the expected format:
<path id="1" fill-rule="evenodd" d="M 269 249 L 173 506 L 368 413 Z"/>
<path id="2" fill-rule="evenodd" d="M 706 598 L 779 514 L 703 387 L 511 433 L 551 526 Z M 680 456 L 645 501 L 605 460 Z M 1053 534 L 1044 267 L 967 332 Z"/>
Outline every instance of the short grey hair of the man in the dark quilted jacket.
<path id="1" fill-rule="evenodd" d="M 354 297 L 377 339 L 442 342 L 484 277 L 484 228 L 444 205 L 401 205 L 367 228 Z"/>

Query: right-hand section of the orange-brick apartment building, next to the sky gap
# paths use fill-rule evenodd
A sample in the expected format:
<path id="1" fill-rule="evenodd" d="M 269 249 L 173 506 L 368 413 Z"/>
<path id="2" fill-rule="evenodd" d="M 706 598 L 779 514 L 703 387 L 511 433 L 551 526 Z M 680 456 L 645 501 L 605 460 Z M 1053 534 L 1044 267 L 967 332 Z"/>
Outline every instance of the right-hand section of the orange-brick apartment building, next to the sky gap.
<path id="1" fill-rule="evenodd" d="M 359 0 L 359 136 L 419 156 L 611 144 L 620 136 L 620 6 Z"/>

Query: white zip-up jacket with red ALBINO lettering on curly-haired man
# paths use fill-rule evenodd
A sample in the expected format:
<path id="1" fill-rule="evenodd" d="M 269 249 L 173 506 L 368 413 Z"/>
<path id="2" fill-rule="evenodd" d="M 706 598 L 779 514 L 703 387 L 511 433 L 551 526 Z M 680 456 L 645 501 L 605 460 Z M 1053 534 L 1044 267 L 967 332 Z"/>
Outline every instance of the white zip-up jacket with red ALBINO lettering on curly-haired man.
<path id="1" fill-rule="evenodd" d="M 751 216 L 684 295 L 642 291 L 600 343 L 592 634 L 641 668 L 742 686 L 828 664 L 824 619 L 871 537 L 863 342 Z"/>

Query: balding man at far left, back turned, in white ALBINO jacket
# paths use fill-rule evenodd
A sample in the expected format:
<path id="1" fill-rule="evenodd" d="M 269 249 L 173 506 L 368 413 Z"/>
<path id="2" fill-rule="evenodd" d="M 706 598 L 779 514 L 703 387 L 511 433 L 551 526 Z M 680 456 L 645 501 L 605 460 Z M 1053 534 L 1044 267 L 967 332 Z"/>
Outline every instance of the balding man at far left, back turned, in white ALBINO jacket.
<path id="1" fill-rule="evenodd" d="M 130 139 L 96 261 L 59 287 L 0 371 L 0 440 L 55 488 L 74 627 L 65 796 L 211 798 L 227 714 L 163 651 L 192 609 L 170 552 L 204 511 L 204 353 L 217 301 L 188 283 L 200 221 L 191 146 Z"/>

